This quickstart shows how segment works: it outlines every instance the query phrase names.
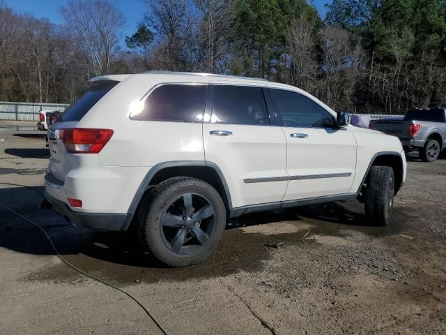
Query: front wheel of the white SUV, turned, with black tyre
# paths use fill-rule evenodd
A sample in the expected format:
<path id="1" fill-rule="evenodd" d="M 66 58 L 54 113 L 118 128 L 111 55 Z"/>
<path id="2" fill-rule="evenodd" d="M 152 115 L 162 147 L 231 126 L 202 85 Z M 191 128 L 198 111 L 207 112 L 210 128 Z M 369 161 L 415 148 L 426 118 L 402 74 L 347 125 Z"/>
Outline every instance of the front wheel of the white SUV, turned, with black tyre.
<path id="1" fill-rule="evenodd" d="M 372 166 L 364 191 L 365 215 L 371 225 L 389 225 L 394 200 L 394 172 Z"/>

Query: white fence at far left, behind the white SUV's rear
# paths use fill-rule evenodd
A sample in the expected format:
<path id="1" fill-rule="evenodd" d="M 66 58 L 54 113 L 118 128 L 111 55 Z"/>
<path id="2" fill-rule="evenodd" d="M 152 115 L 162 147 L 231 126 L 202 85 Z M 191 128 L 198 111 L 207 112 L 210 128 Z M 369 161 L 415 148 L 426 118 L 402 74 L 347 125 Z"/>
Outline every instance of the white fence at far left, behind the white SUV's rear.
<path id="1" fill-rule="evenodd" d="M 11 103 L 0 101 L 0 120 L 39 121 L 40 110 L 65 110 L 63 103 Z"/>

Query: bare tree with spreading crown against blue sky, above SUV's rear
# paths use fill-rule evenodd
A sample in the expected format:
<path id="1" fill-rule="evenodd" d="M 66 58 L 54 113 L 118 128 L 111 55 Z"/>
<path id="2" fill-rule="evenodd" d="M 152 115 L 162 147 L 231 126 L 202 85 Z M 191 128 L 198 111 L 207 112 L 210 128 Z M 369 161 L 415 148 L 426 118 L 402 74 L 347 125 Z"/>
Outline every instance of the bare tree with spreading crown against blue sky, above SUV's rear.
<path id="1" fill-rule="evenodd" d="M 108 74 L 125 24 L 122 13 L 108 0 L 70 0 L 61 7 L 61 14 L 79 47 L 89 55 L 91 73 Z"/>

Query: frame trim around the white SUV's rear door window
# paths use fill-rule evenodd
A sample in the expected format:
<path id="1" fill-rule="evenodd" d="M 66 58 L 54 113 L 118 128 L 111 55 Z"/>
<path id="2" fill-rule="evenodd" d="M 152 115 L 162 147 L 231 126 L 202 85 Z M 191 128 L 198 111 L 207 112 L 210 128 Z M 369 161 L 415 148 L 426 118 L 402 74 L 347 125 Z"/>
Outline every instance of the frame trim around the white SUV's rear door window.
<path id="1" fill-rule="evenodd" d="M 270 124 L 233 124 L 229 122 L 211 122 L 211 117 L 213 115 L 214 107 L 214 90 L 216 86 L 240 86 L 240 87 L 254 87 L 261 90 L 263 95 L 263 102 L 265 103 L 266 112 L 268 113 L 268 119 Z M 205 115 L 209 116 L 208 121 L 203 121 L 205 124 L 226 124 L 229 126 L 251 126 L 251 127 L 277 127 L 279 123 L 277 122 L 277 116 L 275 115 L 275 107 L 272 104 L 272 99 L 268 93 L 268 87 L 266 84 L 251 84 L 251 83 L 233 83 L 233 82 L 209 82 L 208 87 L 208 99 L 209 104 L 206 103 Z"/>

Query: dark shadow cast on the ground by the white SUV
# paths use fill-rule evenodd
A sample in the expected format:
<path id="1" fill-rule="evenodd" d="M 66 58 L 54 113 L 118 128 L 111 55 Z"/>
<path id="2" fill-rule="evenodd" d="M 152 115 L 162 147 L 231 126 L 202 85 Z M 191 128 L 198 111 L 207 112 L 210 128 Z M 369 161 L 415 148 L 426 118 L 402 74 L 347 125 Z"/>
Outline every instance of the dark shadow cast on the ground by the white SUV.
<path id="1" fill-rule="evenodd" d="M 0 206 L 0 247 L 32 255 L 56 255 L 45 234 L 36 227 L 39 225 L 49 234 L 59 253 L 66 255 L 68 260 L 72 257 L 75 258 L 75 262 L 81 262 L 81 260 L 91 262 L 90 258 L 93 258 L 96 262 L 102 260 L 132 267 L 164 268 L 164 265 L 141 248 L 134 229 L 128 232 L 78 229 L 52 209 L 42 208 L 44 186 L 10 187 L 15 184 L 0 183 L 1 185 L 7 187 L 0 188 L 0 204 L 5 204 L 17 211 L 24 218 Z M 305 219 L 310 223 L 312 220 L 318 221 L 315 222 L 318 226 L 316 229 L 324 234 L 337 234 L 342 225 L 348 225 L 351 228 L 356 226 L 353 229 L 358 230 L 367 225 L 363 211 L 361 212 L 359 208 L 362 208 L 360 204 L 358 210 L 351 210 L 339 203 L 328 203 L 248 214 L 229 220 L 226 229 L 231 231 L 249 225 Z M 26 221 L 25 218 L 36 225 Z M 369 229 L 371 229 L 370 234 L 376 234 L 373 228 L 369 227 Z"/>

